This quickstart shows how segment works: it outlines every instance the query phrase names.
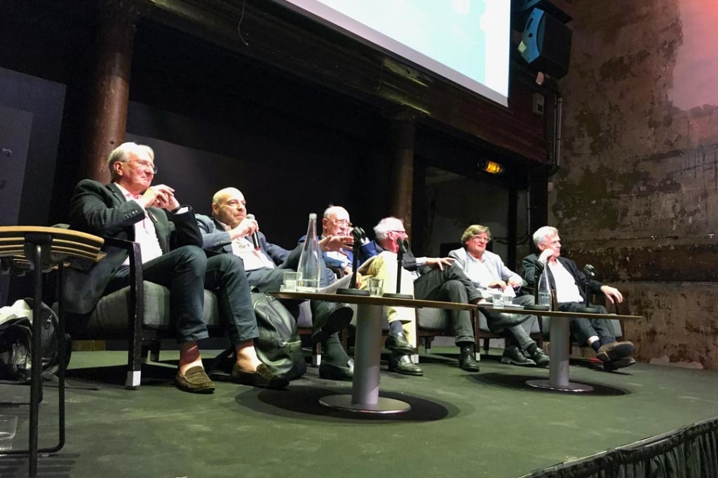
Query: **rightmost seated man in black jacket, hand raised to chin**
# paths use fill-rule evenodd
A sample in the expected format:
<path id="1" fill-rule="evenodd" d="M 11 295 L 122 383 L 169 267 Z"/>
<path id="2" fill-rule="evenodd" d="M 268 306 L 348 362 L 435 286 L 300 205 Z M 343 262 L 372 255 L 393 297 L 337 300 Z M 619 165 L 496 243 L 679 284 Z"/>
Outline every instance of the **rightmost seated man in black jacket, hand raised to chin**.
<path id="1" fill-rule="evenodd" d="M 524 279 L 530 287 L 537 287 L 541 274 L 549 274 L 551 288 L 556 290 L 559 310 L 576 312 L 578 307 L 583 307 L 586 285 L 592 294 L 605 295 L 610 302 L 623 302 L 623 295 L 615 287 L 589 279 L 575 262 L 561 257 L 561 238 L 555 227 L 543 226 L 536 230 L 533 233 L 533 243 L 540 254 L 523 258 Z M 597 307 L 600 308 L 600 313 L 606 313 L 605 307 Z M 588 345 L 596 351 L 596 356 L 603 362 L 605 370 L 615 371 L 635 363 L 632 356 L 633 343 L 617 342 L 608 320 L 578 317 L 571 320 L 570 328 L 579 345 Z"/>

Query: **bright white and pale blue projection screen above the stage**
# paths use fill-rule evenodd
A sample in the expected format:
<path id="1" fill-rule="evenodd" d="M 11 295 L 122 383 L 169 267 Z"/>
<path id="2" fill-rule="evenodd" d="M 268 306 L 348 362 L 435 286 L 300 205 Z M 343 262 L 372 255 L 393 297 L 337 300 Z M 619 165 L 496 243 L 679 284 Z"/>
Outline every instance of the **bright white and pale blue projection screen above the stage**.
<path id="1" fill-rule="evenodd" d="M 510 0 L 276 0 L 508 102 Z"/>

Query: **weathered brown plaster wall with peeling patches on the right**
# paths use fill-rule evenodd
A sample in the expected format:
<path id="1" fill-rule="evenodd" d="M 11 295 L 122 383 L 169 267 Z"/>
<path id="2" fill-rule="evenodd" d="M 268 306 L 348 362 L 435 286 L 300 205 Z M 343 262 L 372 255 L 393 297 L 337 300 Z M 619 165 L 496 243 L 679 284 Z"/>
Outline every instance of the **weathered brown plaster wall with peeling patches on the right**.
<path id="1" fill-rule="evenodd" d="M 549 218 L 646 317 L 637 358 L 718 369 L 718 2 L 573 4 Z"/>

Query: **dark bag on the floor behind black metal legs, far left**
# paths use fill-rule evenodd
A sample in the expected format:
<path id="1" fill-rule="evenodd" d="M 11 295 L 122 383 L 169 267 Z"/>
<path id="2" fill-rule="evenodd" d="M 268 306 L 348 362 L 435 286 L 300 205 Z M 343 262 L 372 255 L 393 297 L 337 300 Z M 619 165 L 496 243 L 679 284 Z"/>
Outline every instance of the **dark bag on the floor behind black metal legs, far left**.
<path id="1" fill-rule="evenodd" d="M 26 298 L 32 315 L 33 300 Z M 57 315 L 42 304 L 42 376 L 50 378 L 60 367 L 60 340 L 57 336 Z M 69 350 L 66 363 L 69 361 Z M 29 382 L 32 376 L 32 321 L 14 317 L 0 323 L 0 380 Z"/>

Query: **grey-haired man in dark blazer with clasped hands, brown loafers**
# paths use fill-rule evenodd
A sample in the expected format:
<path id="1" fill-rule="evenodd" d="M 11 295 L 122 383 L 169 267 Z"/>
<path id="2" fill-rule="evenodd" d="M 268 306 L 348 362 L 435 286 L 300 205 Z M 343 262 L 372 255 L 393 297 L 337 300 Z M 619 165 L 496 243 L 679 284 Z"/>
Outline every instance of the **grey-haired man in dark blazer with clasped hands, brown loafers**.
<path id="1" fill-rule="evenodd" d="M 220 315 L 228 322 L 236 348 L 232 381 L 284 388 L 286 378 L 271 373 L 255 353 L 256 317 L 241 261 L 207 258 L 190 206 L 180 206 L 169 186 L 151 186 L 157 172 L 151 148 L 123 143 L 110 153 L 108 169 L 110 184 L 85 179 L 75 187 L 70 226 L 97 236 L 139 242 L 144 280 L 169 288 L 169 308 L 180 343 L 177 388 L 193 393 L 215 389 L 197 346 L 197 340 L 208 337 L 202 321 L 205 287 L 218 295 Z M 78 263 L 68 269 L 65 298 L 69 312 L 88 314 L 102 295 L 129 285 L 127 252 L 115 247 L 104 250 L 106 258 L 98 264 Z"/>

